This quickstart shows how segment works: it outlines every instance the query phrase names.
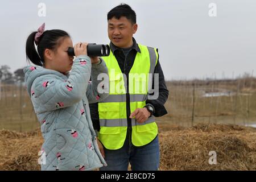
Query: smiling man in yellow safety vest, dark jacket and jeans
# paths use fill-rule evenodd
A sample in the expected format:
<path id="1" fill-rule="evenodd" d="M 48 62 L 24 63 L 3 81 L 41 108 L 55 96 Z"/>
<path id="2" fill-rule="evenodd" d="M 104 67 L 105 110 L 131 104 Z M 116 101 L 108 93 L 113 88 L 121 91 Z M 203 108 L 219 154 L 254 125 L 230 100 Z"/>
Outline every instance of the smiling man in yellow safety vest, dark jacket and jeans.
<path id="1" fill-rule="evenodd" d="M 102 171 L 125 171 L 129 162 L 135 171 L 159 168 L 158 127 L 154 117 L 167 114 L 164 103 L 168 90 L 158 49 L 137 44 L 133 38 L 137 28 L 136 14 L 129 5 L 121 4 L 109 11 L 111 52 L 102 57 L 109 69 L 109 97 L 90 104 L 94 129 L 99 131 L 98 145 L 108 164 L 100 168 Z M 150 74 L 157 75 L 151 82 L 147 77 Z M 153 86 L 159 92 L 153 93 Z M 154 98 L 156 93 L 159 95 Z"/>

